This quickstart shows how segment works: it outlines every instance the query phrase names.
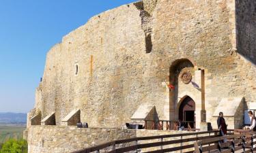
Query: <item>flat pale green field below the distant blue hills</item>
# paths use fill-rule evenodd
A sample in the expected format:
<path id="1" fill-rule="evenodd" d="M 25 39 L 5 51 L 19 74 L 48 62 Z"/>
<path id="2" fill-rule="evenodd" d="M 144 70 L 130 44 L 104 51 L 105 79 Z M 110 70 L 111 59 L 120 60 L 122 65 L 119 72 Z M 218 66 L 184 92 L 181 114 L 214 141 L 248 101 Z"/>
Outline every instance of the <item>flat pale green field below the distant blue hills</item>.
<path id="1" fill-rule="evenodd" d="M 15 126 L 15 125 L 1 125 L 0 124 L 0 143 L 4 143 L 9 139 L 22 139 L 23 131 L 25 126 Z"/>

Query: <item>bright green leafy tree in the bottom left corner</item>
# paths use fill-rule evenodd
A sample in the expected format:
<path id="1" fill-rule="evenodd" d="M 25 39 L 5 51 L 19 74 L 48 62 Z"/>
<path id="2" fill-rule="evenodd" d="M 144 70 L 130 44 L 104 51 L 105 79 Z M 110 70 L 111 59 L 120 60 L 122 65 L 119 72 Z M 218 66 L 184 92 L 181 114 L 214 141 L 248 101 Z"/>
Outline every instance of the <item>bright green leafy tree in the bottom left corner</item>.
<path id="1" fill-rule="evenodd" d="M 27 153 L 27 141 L 25 139 L 9 139 L 3 143 L 0 153 Z"/>

